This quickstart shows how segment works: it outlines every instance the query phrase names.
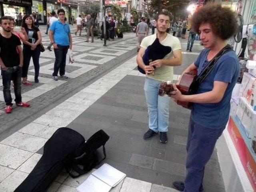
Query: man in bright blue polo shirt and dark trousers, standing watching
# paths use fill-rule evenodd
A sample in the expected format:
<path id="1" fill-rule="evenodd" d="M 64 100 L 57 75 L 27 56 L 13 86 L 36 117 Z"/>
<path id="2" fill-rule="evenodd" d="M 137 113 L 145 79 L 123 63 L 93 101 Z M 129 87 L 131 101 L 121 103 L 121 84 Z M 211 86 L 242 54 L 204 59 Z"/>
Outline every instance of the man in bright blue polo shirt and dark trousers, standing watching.
<path id="1" fill-rule="evenodd" d="M 65 22 L 65 11 L 63 9 L 58 10 L 58 17 L 59 19 L 51 24 L 49 34 L 55 54 L 52 78 L 56 81 L 58 81 L 59 70 L 60 77 L 68 78 L 68 76 L 65 75 L 66 54 L 68 52 L 68 48 L 72 49 L 70 27 Z"/>

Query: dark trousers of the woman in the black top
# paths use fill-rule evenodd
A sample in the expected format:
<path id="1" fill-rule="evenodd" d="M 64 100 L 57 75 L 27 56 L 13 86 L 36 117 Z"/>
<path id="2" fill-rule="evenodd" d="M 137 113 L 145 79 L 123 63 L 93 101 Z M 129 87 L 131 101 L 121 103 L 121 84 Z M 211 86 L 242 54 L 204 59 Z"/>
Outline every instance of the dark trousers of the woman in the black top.
<path id="1" fill-rule="evenodd" d="M 23 46 L 23 67 L 22 67 L 22 77 L 28 76 L 28 67 L 30 64 L 30 60 L 32 57 L 34 68 L 35 68 L 35 79 L 39 76 L 39 57 L 40 57 L 40 49 L 38 47 L 35 48 L 35 50 L 31 50 L 30 47 Z"/>

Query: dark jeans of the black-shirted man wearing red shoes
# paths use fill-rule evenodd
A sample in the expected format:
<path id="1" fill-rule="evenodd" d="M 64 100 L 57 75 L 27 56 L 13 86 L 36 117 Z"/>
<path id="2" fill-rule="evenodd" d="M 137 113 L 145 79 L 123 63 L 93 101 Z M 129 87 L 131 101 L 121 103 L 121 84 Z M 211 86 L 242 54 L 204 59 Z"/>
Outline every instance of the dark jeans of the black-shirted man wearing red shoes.
<path id="1" fill-rule="evenodd" d="M 22 68 L 20 66 L 16 66 L 15 68 L 10 67 L 8 68 L 8 70 L 1 70 L 3 80 L 4 101 L 6 105 L 12 106 L 12 96 L 10 91 L 11 80 L 13 80 L 14 84 L 14 101 L 16 103 L 21 102 L 21 74 Z"/>

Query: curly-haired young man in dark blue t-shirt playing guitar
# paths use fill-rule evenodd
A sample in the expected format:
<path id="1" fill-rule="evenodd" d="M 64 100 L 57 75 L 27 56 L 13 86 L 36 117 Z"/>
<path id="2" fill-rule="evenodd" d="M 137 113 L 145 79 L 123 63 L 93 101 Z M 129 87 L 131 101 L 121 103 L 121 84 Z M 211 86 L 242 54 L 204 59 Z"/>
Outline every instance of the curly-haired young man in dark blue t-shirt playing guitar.
<path id="1" fill-rule="evenodd" d="M 234 12 L 220 4 L 206 4 L 193 15 L 192 28 L 200 34 L 205 49 L 183 74 L 192 70 L 198 70 L 198 74 L 202 72 L 210 60 L 226 46 L 225 40 L 236 32 L 236 17 Z M 177 90 L 172 96 L 174 100 L 194 103 L 188 128 L 187 175 L 184 183 L 173 183 L 176 189 L 184 192 L 204 191 L 204 166 L 228 122 L 230 98 L 238 72 L 238 57 L 234 51 L 228 51 L 218 59 L 196 94 L 182 95 Z M 174 89 L 177 89 L 175 85 Z"/>

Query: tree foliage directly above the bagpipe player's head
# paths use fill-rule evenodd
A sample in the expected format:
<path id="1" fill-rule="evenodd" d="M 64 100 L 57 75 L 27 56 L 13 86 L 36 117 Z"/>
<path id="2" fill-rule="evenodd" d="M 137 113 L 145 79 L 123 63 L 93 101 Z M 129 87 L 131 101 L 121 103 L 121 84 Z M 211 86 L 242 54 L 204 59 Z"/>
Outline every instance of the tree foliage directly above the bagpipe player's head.
<path id="1" fill-rule="evenodd" d="M 162 10 L 170 13 L 174 18 L 185 18 L 186 8 L 188 7 L 190 0 L 151 0 L 146 5 L 148 7 L 148 13 L 152 17 L 156 17 L 156 14 L 162 12 Z"/>

